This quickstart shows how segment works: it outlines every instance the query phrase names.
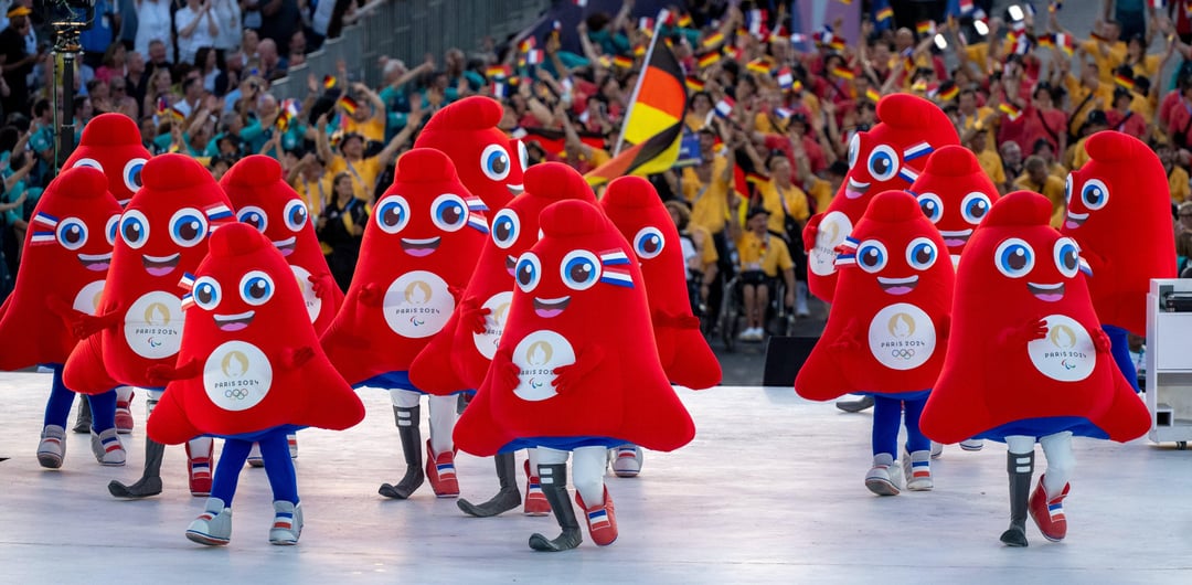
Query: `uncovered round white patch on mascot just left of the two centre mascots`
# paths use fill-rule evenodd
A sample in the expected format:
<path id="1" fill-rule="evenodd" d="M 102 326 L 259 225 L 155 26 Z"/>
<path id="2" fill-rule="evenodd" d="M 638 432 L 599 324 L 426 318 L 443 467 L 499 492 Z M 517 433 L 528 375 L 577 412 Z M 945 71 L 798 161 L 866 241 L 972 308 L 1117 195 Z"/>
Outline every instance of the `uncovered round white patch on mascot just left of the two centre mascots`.
<path id="1" fill-rule="evenodd" d="M 455 299 L 437 274 L 414 270 L 389 285 L 384 310 L 393 332 L 417 340 L 442 330 L 455 310 Z"/>

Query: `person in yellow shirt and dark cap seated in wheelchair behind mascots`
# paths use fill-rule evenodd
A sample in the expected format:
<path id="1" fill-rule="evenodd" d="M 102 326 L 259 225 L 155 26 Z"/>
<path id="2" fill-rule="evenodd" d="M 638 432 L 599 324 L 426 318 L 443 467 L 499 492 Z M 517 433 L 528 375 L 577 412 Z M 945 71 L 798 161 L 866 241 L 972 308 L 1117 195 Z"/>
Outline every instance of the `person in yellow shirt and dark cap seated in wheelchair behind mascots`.
<path id="1" fill-rule="evenodd" d="M 745 304 L 745 329 L 741 341 L 762 341 L 765 337 L 765 311 L 771 292 L 777 287 L 778 270 L 786 282 L 786 306 L 795 303 L 795 263 L 787 243 L 766 229 L 770 212 L 752 207 L 746 216 L 747 230 L 737 242 L 740 257 L 741 299 Z"/>

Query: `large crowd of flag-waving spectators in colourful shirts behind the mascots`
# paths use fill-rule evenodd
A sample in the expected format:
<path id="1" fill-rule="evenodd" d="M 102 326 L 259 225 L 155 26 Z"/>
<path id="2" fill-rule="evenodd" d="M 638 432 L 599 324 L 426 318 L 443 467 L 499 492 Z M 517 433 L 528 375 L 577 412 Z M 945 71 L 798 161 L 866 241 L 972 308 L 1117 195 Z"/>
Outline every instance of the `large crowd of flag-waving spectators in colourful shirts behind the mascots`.
<path id="1" fill-rule="evenodd" d="M 588 14 L 575 31 L 478 39 L 471 52 L 409 66 L 396 57 L 360 64 L 378 68 L 377 87 L 341 62 L 296 80 L 308 88 L 302 101 L 269 93 L 271 81 L 384 1 L 98 0 L 75 76 L 79 127 L 101 112 L 124 113 L 150 151 L 190 154 L 217 178 L 248 154 L 275 156 L 318 218 L 344 286 L 393 161 L 452 101 L 501 99 L 501 127 L 523 139 L 530 164 L 561 161 L 585 173 L 609 160 L 654 24 L 633 15 L 632 0 L 615 14 Z M 1123 13 L 1131 2 L 1107 1 L 1091 31 L 1062 29 L 1045 6 L 987 14 L 980 6 L 988 2 L 977 1 L 930 29 L 882 11 L 864 14 L 851 39 L 833 32 L 843 23 L 795 35 L 775 4 L 763 13 L 750 1 L 689 2 L 671 7 L 659 29 L 687 75 L 684 139 L 697 153 L 651 181 L 683 234 L 694 300 L 715 312 L 724 282 L 739 276 L 744 338 L 764 335 L 771 300 L 807 315 L 799 232 L 831 201 L 849 142 L 877 123 L 881 95 L 937 102 L 1000 191 L 1039 192 L 1056 218 L 1067 172 L 1087 160 L 1084 139 L 1101 130 L 1156 149 L 1173 210 L 1192 198 L 1192 20 L 1181 2 L 1160 11 L 1134 2 L 1146 4 L 1140 17 Z M 51 178 L 55 112 L 48 36 L 31 32 L 20 10 L 29 0 L 4 5 L 0 211 L 13 269 L 29 211 Z M 564 41 L 578 50 L 564 50 Z M 1184 262 L 1192 204 L 1179 214 Z M 776 291 L 783 298 L 772 299 Z"/>

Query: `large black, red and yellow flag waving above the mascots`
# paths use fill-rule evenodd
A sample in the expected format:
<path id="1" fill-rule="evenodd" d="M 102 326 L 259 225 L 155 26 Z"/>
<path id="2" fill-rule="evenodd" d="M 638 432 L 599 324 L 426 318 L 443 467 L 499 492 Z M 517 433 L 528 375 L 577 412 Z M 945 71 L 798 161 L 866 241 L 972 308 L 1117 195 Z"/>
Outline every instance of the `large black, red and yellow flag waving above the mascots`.
<path id="1" fill-rule="evenodd" d="M 627 174 L 662 173 L 675 164 L 687 114 L 683 80 L 675 54 L 665 44 L 654 43 L 621 126 L 621 138 L 633 145 L 588 173 L 589 185 L 602 185 Z"/>

